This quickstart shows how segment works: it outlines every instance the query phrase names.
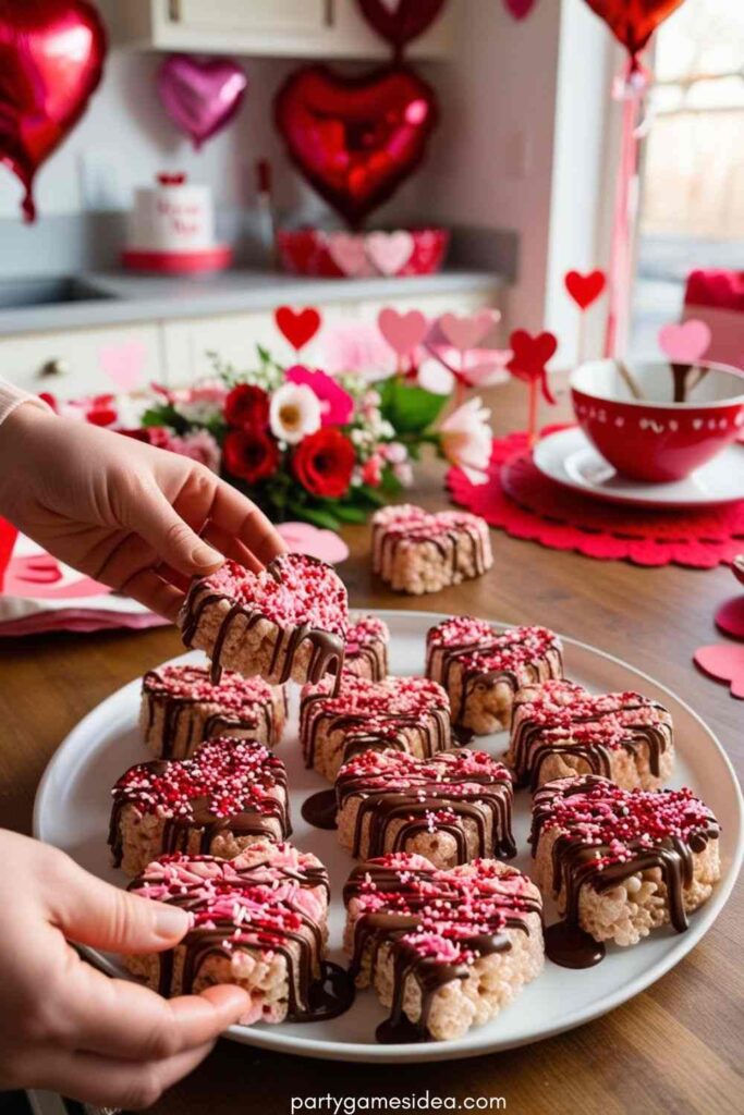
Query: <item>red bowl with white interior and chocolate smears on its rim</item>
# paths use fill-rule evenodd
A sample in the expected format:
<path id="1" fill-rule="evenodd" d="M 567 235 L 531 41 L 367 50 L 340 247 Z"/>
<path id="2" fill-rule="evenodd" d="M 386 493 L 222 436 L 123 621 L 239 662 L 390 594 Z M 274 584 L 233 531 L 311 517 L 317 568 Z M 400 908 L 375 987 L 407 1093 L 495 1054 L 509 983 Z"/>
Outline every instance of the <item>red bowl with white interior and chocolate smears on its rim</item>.
<path id="1" fill-rule="evenodd" d="M 744 375 L 735 368 L 696 365 L 703 377 L 690 370 L 687 401 L 674 403 L 667 362 L 626 361 L 625 367 L 641 399 L 634 398 L 615 360 L 583 363 L 570 380 L 579 425 L 625 476 L 655 484 L 683 479 L 744 428 Z"/>

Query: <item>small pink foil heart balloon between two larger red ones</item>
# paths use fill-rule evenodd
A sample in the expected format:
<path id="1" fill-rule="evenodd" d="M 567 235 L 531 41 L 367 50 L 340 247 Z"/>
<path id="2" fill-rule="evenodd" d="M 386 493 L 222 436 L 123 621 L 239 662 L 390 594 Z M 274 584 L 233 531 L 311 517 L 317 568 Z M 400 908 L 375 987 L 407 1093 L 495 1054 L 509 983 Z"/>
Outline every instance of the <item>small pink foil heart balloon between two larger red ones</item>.
<path id="1" fill-rule="evenodd" d="M 156 80 L 165 112 L 197 151 L 232 119 L 248 87 L 244 71 L 231 59 L 189 55 L 166 58 Z"/>

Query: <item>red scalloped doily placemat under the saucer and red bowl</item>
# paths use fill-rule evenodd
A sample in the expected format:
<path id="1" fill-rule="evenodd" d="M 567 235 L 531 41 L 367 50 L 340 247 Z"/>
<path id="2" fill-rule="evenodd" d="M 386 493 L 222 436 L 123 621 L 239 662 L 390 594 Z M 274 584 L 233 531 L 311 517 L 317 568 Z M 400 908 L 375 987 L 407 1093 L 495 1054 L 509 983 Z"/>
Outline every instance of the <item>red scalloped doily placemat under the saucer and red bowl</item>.
<path id="1" fill-rule="evenodd" d="M 548 426 L 551 434 L 564 426 Z M 561 487 L 532 463 L 526 433 L 494 438 L 485 484 L 447 473 L 455 503 L 514 539 L 576 550 L 600 561 L 712 569 L 744 549 L 744 501 L 700 511 L 658 511 L 602 503 Z"/>

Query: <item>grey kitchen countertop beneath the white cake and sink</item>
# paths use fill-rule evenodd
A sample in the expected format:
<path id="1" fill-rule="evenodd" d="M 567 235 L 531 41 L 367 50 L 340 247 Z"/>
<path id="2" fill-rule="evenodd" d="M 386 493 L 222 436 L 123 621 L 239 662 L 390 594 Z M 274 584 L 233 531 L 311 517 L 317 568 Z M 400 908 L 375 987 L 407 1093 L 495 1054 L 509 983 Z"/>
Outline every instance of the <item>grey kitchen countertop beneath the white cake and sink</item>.
<path id="1" fill-rule="evenodd" d="M 199 318 L 365 299 L 417 298 L 492 291 L 504 280 L 484 271 L 443 271 L 404 279 L 306 279 L 267 271 L 224 271 L 164 278 L 123 272 L 81 274 L 89 300 L 0 309 L 0 337 L 46 330 L 91 329 L 137 321 Z M 12 282 L 12 280 L 8 280 Z"/>

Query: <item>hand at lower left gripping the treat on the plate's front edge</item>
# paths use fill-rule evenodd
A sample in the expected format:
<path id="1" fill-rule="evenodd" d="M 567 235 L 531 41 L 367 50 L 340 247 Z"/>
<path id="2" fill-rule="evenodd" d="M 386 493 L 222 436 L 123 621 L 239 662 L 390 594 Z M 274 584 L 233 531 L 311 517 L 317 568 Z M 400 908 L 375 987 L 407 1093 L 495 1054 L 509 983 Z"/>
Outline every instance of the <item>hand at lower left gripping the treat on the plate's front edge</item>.
<path id="1" fill-rule="evenodd" d="M 0 1088 L 51 1088 L 98 1106 L 148 1107 L 249 1007 L 239 987 L 163 999 L 109 979 L 66 938 L 114 952 L 174 946 L 176 906 L 128 894 L 38 841 L 0 831 Z M 19 883 L 19 880 L 22 883 Z"/>

